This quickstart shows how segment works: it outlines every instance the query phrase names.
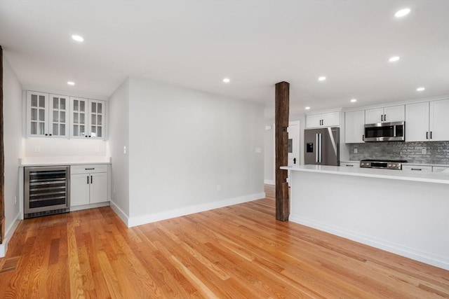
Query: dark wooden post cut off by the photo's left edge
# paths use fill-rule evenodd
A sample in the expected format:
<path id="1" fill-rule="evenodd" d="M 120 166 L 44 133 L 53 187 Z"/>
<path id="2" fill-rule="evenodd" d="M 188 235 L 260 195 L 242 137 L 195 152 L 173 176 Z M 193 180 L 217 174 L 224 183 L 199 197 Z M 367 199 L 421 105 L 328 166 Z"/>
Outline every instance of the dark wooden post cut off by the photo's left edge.
<path id="1" fill-rule="evenodd" d="M 5 237 L 5 193 L 4 193 L 4 144 L 3 144 L 3 49 L 0 46 L 0 244 Z"/>

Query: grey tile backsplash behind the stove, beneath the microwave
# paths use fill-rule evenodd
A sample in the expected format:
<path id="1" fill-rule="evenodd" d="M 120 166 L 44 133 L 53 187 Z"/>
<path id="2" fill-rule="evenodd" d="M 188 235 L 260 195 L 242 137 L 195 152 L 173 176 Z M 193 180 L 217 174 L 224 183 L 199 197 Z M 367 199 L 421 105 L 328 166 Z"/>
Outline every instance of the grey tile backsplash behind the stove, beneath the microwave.
<path id="1" fill-rule="evenodd" d="M 357 153 L 354 153 L 355 148 Z M 349 144 L 349 159 L 391 159 L 407 160 L 410 163 L 449 165 L 449 141 Z"/>

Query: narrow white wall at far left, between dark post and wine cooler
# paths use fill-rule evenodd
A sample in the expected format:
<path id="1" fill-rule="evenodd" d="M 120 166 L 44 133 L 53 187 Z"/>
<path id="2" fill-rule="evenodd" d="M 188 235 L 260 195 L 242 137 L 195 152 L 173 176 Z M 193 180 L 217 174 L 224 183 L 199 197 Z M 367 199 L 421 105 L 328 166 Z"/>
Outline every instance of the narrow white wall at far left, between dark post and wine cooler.
<path id="1" fill-rule="evenodd" d="M 5 160 L 5 242 L 0 248 L 4 256 L 8 239 L 18 225 L 19 202 L 19 158 L 22 158 L 22 85 L 11 65 L 3 57 L 4 92 L 4 160 Z"/>

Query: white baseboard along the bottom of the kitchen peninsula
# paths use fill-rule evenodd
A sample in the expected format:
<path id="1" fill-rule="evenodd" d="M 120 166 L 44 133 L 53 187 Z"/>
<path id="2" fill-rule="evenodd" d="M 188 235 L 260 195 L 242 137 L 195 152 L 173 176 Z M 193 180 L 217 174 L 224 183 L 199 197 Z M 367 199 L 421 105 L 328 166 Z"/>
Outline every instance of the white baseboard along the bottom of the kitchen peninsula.
<path id="1" fill-rule="evenodd" d="M 330 234 L 337 235 L 339 237 L 344 237 L 346 239 L 350 239 L 355 242 L 373 246 L 377 249 L 382 249 L 384 251 L 396 253 L 399 256 L 405 256 L 406 258 L 411 258 L 412 260 L 418 260 L 422 263 L 426 263 L 436 267 L 441 267 L 445 270 L 449 270 L 449 259 L 443 256 L 435 256 L 434 254 L 431 253 L 417 251 L 410 247 L 401 246 L 399 244 L 394 244 L 382 239 L 369 237 L 367 235 L 361 235 L 356 232 L 344 230 L 342 228 L 337 228 L 335 226 L 328 225 L 326 223 L 320 223 L 318 221 L 313 221 L 300 216 L 298 217 L 290 215 L 289 221 L 306 225 L 309 226 L 310 228 L 316 228 L 317 230 L 322 230 L 323 232 L 329 232 Z"/>

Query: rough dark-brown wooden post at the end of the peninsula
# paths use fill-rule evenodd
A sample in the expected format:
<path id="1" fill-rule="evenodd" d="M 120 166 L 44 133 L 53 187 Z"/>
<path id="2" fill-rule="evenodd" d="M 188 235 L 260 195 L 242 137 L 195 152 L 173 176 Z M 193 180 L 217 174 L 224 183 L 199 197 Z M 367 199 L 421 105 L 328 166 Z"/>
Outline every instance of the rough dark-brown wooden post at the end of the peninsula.
<path id="1" fill-rule="evenodd" d="M 276 147 L 276 219 L 288 221 L 290 215 L 290 200 L 288 198 L 287 170 L 279 169 L 288 165 L 288 113 L 290 84 L 276 83 L 276 112 L 274 116 Z"/>

